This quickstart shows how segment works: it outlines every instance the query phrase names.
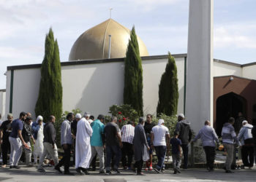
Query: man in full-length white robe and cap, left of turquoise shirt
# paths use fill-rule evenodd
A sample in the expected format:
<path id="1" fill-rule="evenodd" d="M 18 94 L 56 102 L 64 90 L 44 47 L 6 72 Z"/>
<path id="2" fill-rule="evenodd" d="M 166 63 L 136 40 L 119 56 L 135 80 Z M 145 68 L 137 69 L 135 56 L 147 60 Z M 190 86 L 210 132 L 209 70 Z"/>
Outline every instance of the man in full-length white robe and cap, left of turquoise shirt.
<path id="1" fill-rule="evenodd" d="M 78 121 L 75 141 L 75 169 L 80 175 L 89 175 L 88 169 L 91 159 L 90 137 L 92 129 L 86 117 L 89 117 L 88 113 L 85 113 L 83 118 Z"/>

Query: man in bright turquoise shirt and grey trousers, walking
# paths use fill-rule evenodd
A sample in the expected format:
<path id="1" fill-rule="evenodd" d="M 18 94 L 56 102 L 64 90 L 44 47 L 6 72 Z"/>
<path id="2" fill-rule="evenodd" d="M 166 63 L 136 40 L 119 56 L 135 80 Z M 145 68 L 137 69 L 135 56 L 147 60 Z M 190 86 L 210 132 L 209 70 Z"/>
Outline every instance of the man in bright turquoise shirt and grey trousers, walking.
<path id="1" fill-rule="evenodd" d="M 104 148 L 103 148 L 103 142 L 105 138 L 105 125 L 104 122 L 104 116 L 102 114 L 99 114 L 98 118 L 91 122 L 91 128 L 93 130 L 91 135 L 91 161 L 94 159 L 96 155 L 99 157 L 99 173 L 105 173 L 104 171 Z"/>

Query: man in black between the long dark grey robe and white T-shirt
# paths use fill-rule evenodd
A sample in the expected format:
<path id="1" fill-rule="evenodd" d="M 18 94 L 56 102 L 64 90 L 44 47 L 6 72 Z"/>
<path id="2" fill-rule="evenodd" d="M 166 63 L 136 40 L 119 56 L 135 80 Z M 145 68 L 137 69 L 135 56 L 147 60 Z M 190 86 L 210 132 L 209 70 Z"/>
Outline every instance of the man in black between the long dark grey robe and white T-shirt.
<path id="1" fill-rule="evenodd" d="M 152 159 L 153 159 L 153 149 L 151 148 L 152 146 L 152 143 L 151 143 L 151 130 L 152 128 L 156 125 L 154 123 L 152 123 L 152 114 L 147 114 L 146 116 L 146 122 L 145 122 L 145 125 L 144 125 L 144 130 L 146 132 L 146 139 L 148 141 L 148 146 L 150 147 L 150 149 L 148 150 L 148 154 L 149 154 L 149 159 L 148 161 L 146 162 L 146 168 L 145 170 L 153 170 L 153 167 L 152 167 Z"/>

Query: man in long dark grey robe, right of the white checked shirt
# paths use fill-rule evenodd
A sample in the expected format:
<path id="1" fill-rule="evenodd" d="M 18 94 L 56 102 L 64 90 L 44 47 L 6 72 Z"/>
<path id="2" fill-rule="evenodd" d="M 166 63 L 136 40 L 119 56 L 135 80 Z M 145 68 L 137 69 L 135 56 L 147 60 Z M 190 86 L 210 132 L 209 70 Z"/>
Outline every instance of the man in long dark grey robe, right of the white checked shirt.
<path id="1" fill-rule="evenodd" d="M 135 136 L 133 138 L 134 154 L 135 154 L 135 167 L 137 168 L 137 175 L 144 175 L 141 170 L 143 161 L 148 161 L 148 141 L 146 140 L 146 133 L 143 128 L 144 120 L 140 117 L 139 124 L 135 127 Z"/>

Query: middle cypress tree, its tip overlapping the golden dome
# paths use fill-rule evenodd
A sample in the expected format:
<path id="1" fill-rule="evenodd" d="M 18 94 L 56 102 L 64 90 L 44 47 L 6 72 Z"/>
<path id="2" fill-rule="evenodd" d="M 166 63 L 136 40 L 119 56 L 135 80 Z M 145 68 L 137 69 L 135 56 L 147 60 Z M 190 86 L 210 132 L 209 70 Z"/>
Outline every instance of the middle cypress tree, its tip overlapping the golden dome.
<path id="1" fill-rule="evenodd" d="M 134 26 L 124 59 L 124 104 L 129 104 L 143 116 L 143 70 Z"/>

